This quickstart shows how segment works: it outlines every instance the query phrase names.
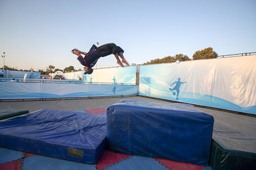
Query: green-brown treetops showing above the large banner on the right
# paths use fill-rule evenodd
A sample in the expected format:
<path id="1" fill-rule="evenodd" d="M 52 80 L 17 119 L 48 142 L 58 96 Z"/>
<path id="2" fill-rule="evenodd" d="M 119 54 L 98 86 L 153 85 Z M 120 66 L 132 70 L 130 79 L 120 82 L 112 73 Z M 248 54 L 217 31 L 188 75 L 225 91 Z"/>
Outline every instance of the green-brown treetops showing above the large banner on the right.
<path id="1" fill-rule="evenodd" d="M 193 55 L 193 60 L 203 60 L 209 58 L 216 58 L 218 54 L 214 52 L 212 47 L 208 47 L 202 50 L 198 50 Z M 156 58 L 155 60 L 151 60 L 150 62 L 146 62 L 144 64 L 159 64 L 159 63 L 172 63 L 175 61 L 189 61 L 190 58 L 187 55 L 176 54 L 175 56 L 167 56 L 164 58 Z"/>

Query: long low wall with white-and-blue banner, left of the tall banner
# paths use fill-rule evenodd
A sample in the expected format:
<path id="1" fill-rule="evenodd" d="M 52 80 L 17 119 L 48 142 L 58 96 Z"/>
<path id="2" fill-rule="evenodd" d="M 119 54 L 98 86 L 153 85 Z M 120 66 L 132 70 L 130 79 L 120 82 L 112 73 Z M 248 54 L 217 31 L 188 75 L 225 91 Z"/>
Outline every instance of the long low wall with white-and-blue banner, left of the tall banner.
<path id="1" fill-rule="evenodd" d="M 0 82 L 0 99 L 138 95 L 137 85 Z"/>

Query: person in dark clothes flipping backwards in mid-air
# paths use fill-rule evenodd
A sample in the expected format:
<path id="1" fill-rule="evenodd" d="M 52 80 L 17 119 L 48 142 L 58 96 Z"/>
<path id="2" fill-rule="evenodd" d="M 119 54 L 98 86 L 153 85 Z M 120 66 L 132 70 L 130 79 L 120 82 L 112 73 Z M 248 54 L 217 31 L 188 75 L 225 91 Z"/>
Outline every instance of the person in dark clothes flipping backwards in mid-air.
<path id="1" fill-rule="evenodd" d="M 97 43 L 98 44 L 98 43 Z M 91 74 L 93 72 L 92 67 L 97 63 L 100 57 L 105 57 L 110 54 L 114 54 L 117 60 L 117 64 L 124 66 L 123 63 L 128 64 L 128 62 L 125 60 L 123 53 L 124 50 L 116 46 L 114 43 L 109 43 L 102 45 L 100 47 L 97 47 L 95 45 L 92 45 L 91 49 L 88 53 L 81 52 L 80 50 L 74 48 L 71 50 L 71 52 L 78 56 L 77 60 L 84 65 L 84 74 Z M 84 54 L 85 56 L 82 57 L 81 54 Z M 121 57 L 122 62 L 119 60 L 119 57 Z"/>

